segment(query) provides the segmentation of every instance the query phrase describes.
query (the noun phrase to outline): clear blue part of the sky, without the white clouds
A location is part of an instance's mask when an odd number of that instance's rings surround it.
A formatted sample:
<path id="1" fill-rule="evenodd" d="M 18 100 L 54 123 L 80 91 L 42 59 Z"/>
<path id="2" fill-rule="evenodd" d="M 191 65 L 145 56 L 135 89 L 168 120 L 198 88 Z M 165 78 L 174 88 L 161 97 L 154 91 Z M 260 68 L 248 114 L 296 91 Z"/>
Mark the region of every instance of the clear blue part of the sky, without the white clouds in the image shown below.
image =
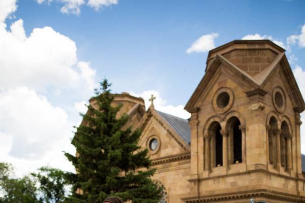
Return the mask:
<path id="1" fill-rule="evenodd" d="M 79 15 L 62 14 L 61 6 L 23 0 L 15 15 L 27 35 L 51 26 L 75 41 L 78 58 L 113 91 L 154 89 L 172 105 L 186 104 L 204 75 L 207 52 L 186 53 L 200 36 L 219 33 L 216 46 L 254 33 L 286 42 L 305 23 L 304 1 L 123 0 L 100 11 L 83 5 Z M 293 53 L 305 63 L 304 49 Z"/>

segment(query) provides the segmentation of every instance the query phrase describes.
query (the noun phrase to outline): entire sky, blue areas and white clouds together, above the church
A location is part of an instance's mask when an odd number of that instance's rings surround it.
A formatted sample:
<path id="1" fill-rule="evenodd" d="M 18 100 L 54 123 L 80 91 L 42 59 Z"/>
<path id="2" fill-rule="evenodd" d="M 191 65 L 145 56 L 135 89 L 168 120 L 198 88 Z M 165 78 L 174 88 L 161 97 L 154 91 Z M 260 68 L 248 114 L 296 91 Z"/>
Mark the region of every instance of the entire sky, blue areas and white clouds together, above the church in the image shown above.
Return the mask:
<path id="1" fill-rule="evenodd" d="M 72 126 L 104 78 L 113 92 L 146 101 L 154 93 L 158 110 L 188 118 L 208 50 L 236 39 L 285 48 L 305 96 L 303 8 L 296 0 L 1 0 L 0 161 L 17 175 L 43 165 L 73 171 L 63 151 L 74 153 Z"/>

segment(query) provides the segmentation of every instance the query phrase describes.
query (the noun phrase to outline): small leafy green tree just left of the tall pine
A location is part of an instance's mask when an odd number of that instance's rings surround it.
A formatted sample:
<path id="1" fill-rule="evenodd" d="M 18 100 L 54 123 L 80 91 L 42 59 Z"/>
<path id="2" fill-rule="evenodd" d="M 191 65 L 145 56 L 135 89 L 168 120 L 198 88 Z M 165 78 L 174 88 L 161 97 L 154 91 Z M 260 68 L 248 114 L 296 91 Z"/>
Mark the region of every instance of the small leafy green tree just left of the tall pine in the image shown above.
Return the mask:
<path id="1" fill-rule="evenodd" d="M 68 196 L 69 183 L 63 171 L 57 168 L 41 167 L 38 173 L 32 173 L 32 176 L 39 183 L 39 192 L 41 199 L 46 203 L 64 202 Z"/>

